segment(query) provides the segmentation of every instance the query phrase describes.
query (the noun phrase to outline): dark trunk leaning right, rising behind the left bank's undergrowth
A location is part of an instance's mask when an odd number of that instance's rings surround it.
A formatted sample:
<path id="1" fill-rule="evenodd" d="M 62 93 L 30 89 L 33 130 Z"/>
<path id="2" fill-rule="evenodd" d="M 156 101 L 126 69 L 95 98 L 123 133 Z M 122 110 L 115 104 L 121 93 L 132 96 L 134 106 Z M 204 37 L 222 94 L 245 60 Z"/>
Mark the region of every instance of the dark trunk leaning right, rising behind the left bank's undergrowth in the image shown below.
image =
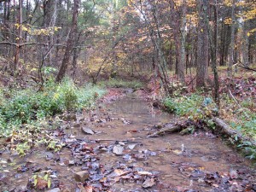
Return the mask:
<path id="1" fill-rule="evenodd" d="M 56 82 L 60 82 L 61 79 L 64 78 L 64 76 L 67 72 L 69 58 L 70 58 L 71 52 L 73 50 L 74 32 L 76 32 L 76 28 L 78 26 L 78 12 L 79 12 L 79 0 L 74 0 L 72 26 L 71 26 L 71 30 L 68 34 L 67 47 L 65 50 L 63 61 L 61 63 L 61 68 L 60 68 L 60 71 L 55 79 Z"/>

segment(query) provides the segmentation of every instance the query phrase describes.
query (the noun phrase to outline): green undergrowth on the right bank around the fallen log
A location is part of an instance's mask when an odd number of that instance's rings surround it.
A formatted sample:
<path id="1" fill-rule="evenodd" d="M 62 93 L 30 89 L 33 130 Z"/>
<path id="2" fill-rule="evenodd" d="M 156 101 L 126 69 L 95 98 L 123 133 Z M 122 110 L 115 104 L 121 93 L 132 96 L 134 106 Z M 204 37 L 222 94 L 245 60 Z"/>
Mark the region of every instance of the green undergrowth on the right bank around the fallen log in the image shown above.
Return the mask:
<path id="1" fill-rule="evenodd" d="M 184 119 L 202 120 L 211 129 L 215 129 L 211 117 L 219 113 L 220 117 L 230 124 L 230 127 L 234 130 L 241 132 L 244 137 L 256 139 L 256 114 L 250 110 L 253 103 L 241 102 L 241 108 L 237 108 L 237 104 L 230 99 L 224 98 L 222 102 L 229 108 L 221 106 L 219 111 L 211 96 L 200 94 L 167 97 L 163 104 L 168 112 L 175 113 Z M 230 106 L 233 106 L 233 108 L 230 108 Z M 230 142 L 241 148 L 249 159 L 256 159 L 256 148 L 252 143 L 247 141 L 237 143 L 236 137 L 230 138 Z"/>

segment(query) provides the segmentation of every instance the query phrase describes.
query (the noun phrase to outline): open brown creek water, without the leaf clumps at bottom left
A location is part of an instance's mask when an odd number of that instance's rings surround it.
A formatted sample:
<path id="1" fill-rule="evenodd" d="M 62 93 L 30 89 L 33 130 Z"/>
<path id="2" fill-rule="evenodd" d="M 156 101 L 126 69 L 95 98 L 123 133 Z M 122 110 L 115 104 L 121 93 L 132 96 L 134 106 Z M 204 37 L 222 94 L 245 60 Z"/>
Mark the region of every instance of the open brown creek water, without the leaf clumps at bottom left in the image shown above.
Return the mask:
<path id="1" fill-rule="evenodd" d="M 214 183 L 213 181 L 211 183 L 210 180 L 214 180 L 214 177 L 219 177 L 220 180 L 223 177 L 232 177 L 230 174 L 234 174 L 234 178 L 238 178 L 239 172 L 242 172 L 243 175 L 249 172 L 248 177 L 251 178 L 248 178 L 247 183 L 252 183 L 255 178 L 252 163 L 234 152 L 220 138 L 214 137 L 211 133 L 198 132 L 185 136 L 166 134 L 162 137 L 147 137 L 149 132 L 156 131 L 154 125 L 175 120 L 174 116 L 151 108 L 148 102 L 130 95 L 116 102 L 101 104 L 94 112 L 80 113 L 74 121 L 68 123 L 63 121 L 61 127 L 65 130 L 65 135 L 71 143 L 75 139 L 87 142 L 86 144 L 90 148 L 99 148 L 99 146 L 105 148 L 106 150 L 94 154 L 105 170 L 124 164 L 137 167 L 138 170 L 142 169 L 144 172 L 150 172 L 156 176 L 155 184 L 147 189 L 142 187 L 142 182 L 136 182 L 134 179 L 122 179 L 112 183 L 109 191 L 233 191 L 230 183 L 229 187 L 224 190 L 223 186 L 218 188 L 224 183 Z M 81 131 L 82 127 L 94 131 L 95 134 L 84 134 Z M 115 144 L 119 144 L 124 149 L 122 154 L 114 154 L 112 148 L 108 148 Z M 56 184 L 57 187 L 69 189 L 69 191 L 79 191 L 73 179 L 73 172 L 81 171 L 82 165 L 79 163 L 65 164 L 65 161 L 73 160 L 72 150 L 62 148 L 58 154 L 60 161 L 56 161 L 54 158 L 45 160 L 46 155 L 52 154 L 44 149 L 38 149 L 23 158 L 18 158 L 17 155 L 12 158 L 15 159 L 16 167 L 27 164 L 27 162 L 37 165 L 37 167 L 50 167 L 56 172 L 60 181 L 59 185 Z M 2 161 L 7 160 L 10 158 L 10 154 L 3 153 L 0 158 Z M 12 170 L 14 166 L 4 166 L 3 169 Z M 0 175 L 1 191 L 10 191 L 11 189 L 19 191 L 19 186 L 26 185 L 32 172 L 34 172 L 32 169 L 20 173 L 4 172 L 3 181 L 1 181 Z M 241 191 L 243 189 L 241 187 Z M 22 190 L 20 189 L 20 191 Z"/>

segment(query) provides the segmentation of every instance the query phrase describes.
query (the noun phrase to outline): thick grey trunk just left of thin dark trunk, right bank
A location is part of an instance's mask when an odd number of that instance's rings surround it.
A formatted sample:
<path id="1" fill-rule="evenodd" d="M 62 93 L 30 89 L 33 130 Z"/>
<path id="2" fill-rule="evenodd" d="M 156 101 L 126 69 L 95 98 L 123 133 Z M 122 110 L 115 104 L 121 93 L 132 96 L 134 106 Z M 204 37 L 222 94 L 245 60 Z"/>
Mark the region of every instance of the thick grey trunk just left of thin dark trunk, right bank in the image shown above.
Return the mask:
<path id="1" fill-rule="evenodd" d="M 197 40 L 197 66 L 196 66 L 196 88 L 205 86 L 207 79 L 208 67 L 208 32 L 207 32 L 207 10 L 209 7 L 208 0 L 197 0 L 199 7 L 199 24 Z"/>

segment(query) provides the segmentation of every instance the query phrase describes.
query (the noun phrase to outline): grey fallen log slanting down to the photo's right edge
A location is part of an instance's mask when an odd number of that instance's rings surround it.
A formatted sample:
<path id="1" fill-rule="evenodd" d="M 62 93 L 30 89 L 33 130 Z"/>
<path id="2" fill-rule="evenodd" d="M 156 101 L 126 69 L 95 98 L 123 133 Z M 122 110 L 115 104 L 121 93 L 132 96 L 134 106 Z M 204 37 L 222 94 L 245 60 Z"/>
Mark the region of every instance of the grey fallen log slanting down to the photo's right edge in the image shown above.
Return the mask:
<path id="1" fill-rule="evenodd" d="M 226 135 L 228 137 L 233 137 L 233 138 L 236 137 L 236 141 L 239 143 L 247 141 L 249 143 L 252 143 L 252 145 L 256 146 L 255 140 L 253 140 L 252 138 L 249 138 L 249 137 L 242 136 L 240 132 L 235 131 L 232 128 L 230 128 L 230 125 L 227 125 L 223 119 L 212 118 L 212 121 L 215 123 L 215 125 L 217 125 L 217 129 L 224 135 Z"/>

